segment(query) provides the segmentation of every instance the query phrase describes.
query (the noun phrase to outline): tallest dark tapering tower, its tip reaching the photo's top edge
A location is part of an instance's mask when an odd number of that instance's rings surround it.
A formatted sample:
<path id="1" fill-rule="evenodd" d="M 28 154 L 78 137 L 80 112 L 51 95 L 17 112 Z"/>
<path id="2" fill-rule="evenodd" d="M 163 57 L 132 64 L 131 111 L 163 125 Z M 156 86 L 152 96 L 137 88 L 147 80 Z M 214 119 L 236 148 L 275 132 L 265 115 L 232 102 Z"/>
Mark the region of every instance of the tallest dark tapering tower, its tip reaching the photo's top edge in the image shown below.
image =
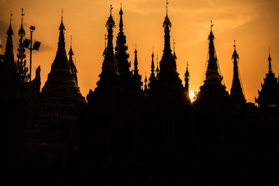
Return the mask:
<path id="1" fill-rule="evenodd" d="M 167 2 L 168 4 L 168 2 Z M 157 102 L 167 102 L 169 104 L 182 103 L 185 101 L 184 88 L 182 81 L 179 78 L 179 73 L 176 72 L 176 61 L 170 48 L 169 30 L 172 23 L 167 15 L 163 22 L 165 31 L 165 46 L 163 56 L 160 61 L 160 72 L 158 73 L 158 84 L 156 85 L 156 93 L 153 97 Z"/>

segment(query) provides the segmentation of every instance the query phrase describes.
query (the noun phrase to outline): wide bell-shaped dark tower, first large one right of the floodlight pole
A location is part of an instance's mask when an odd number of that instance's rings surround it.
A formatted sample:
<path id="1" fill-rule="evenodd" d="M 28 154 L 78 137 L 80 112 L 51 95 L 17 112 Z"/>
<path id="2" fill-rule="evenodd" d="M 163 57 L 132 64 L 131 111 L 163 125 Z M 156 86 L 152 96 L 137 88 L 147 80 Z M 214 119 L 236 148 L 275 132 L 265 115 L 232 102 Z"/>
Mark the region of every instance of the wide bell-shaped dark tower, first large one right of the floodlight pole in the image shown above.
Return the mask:
<path id="1" fill-rule="evenodd" d="M 43 86 L 42 92 L 40 93 L 41 102 L 50 107 L 65 104 L 69 106 L 76 105 L 85 101 L 80 93 L 75 76 L 71 71 L 71 65 L 67 59 L 64 38 L 65 30 L 62 11 L 58 49 L 50 73 L 47 76 L 47 82 L 45 82 L 45 86 Z M 69 53 L 71 53 L 71 50 Z"/>

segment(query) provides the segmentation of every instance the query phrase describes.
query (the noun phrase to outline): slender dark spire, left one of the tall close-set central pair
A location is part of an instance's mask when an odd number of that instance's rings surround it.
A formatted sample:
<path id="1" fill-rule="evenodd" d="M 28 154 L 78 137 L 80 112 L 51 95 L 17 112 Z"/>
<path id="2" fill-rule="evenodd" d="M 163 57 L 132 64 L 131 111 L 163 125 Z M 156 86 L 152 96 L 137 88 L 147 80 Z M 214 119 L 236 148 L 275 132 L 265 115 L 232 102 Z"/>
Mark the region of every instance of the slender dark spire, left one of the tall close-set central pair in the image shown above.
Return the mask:
<path id="1" fill-rule="evenodd" d="M 119 76 L 116 58 L 114 56 L 113 40 L 113 28 L 115 28 L 115 22 L 112 17 L 112 5 L 110 5 L 110 17 L 108 18 L 105 26 L 107 27 L 107 49 L 105 50 L 105 59 L 103 61 L 102 73 L 100 77 L 104 75 L 116 75 Z"/>

